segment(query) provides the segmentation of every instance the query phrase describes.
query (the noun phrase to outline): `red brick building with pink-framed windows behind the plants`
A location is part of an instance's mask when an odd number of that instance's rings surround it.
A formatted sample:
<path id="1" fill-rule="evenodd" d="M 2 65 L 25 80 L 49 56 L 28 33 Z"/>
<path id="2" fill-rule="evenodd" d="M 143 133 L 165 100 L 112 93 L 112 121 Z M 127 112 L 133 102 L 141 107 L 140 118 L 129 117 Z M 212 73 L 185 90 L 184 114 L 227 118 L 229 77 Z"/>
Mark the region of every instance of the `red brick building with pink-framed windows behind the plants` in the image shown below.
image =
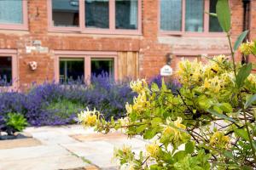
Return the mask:
<path id="1" fill-rule="evenodd" d="M 118 80 L 153 77 L 166 54 L 174 70 L 182 57 L 230 54 L 218 20 L 204 13 L 214 13 L 216 2 L 1 0 L 0 75 L 13 88 L 101 71 Z M 256 0 L 230 0 L 230 7 L 233 39 L 245 29 L 255 39 Z"/>

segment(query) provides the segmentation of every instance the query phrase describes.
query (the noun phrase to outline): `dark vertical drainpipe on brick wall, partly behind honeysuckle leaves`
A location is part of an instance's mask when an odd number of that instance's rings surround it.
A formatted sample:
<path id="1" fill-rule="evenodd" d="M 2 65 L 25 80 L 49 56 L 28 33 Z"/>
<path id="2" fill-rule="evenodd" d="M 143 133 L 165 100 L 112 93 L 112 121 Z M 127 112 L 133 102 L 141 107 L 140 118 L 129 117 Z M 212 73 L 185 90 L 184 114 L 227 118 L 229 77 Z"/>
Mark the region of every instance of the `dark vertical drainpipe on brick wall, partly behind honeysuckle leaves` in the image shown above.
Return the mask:
<path id="1" fill-rule="evenodd" d="M 251 0 L 242 0 L 243 4 L 243 21 L 242 21 L 242 31 L 250 29 L 250 12 L 251 12 Z M 249 39 L 249 33 L 247 37 L 243 40 L 246 42 Z M 241 64 L 248 63 L 248 55 L 243 55 L 241 58 Z"/>

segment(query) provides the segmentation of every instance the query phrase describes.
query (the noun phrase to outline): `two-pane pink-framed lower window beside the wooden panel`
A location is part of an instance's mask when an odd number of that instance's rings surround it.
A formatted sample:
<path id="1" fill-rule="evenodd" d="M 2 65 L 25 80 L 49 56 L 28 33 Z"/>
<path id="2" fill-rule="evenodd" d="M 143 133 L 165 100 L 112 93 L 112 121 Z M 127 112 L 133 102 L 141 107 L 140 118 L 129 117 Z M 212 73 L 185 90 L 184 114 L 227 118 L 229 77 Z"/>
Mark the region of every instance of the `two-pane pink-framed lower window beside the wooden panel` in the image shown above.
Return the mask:
<path id="1" fill-rule="evenodd" d="M 117 78 L 116 52 L 55 51 L 55 81 L 85 82 L 100 75 Z"/>

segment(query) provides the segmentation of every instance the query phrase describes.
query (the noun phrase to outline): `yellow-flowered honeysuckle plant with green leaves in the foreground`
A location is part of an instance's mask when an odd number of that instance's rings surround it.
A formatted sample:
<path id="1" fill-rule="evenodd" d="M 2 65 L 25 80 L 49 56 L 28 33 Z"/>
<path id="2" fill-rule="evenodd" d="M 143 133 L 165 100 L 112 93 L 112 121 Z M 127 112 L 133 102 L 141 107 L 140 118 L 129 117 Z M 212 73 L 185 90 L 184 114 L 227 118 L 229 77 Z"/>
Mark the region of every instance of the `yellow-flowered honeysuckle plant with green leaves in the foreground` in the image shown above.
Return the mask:
<path id="1" fill-rule="evenodd" d="M 145 151 L 116 149 L 123 169 L 255 169 L 256 168 L 256 76 L 252 64 L 236 64 L 235 52 L 255 55 L 255 42 L 234 47 L 230 40 L 228 0 L 218 0 L 218 21 L 230 42 L 230 57 L 218 55 L 207 65 L 183 60 L 177 76 L 182 87 L 176 92 L 145 80 L 131 82 L 137 93 L 126 104 L 126 116 L 107 122 L 97 111 L 84 111 L 85 127 L 109 133 L 122 129 L 129 137 L 148 139 Z"/>

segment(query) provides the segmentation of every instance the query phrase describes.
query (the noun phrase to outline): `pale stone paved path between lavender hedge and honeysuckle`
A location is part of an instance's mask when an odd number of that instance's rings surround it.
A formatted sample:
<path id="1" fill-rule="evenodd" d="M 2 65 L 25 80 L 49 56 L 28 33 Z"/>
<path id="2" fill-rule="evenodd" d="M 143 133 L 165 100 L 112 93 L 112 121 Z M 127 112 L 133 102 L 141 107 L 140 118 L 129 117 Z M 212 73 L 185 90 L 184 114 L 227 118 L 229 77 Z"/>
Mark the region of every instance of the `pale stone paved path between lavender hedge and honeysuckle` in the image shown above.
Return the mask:
<path id="1" fill-rule="evenodd" d="M 146 144 L 122 133 L 104 135 L 79 125 L 28 127 L 24 133 L 33 139 L 4 141 L 0 147 L 0 170 L 118 169 L 112 159 L 114 147 L 131 145 L 137 152 Z"/>

